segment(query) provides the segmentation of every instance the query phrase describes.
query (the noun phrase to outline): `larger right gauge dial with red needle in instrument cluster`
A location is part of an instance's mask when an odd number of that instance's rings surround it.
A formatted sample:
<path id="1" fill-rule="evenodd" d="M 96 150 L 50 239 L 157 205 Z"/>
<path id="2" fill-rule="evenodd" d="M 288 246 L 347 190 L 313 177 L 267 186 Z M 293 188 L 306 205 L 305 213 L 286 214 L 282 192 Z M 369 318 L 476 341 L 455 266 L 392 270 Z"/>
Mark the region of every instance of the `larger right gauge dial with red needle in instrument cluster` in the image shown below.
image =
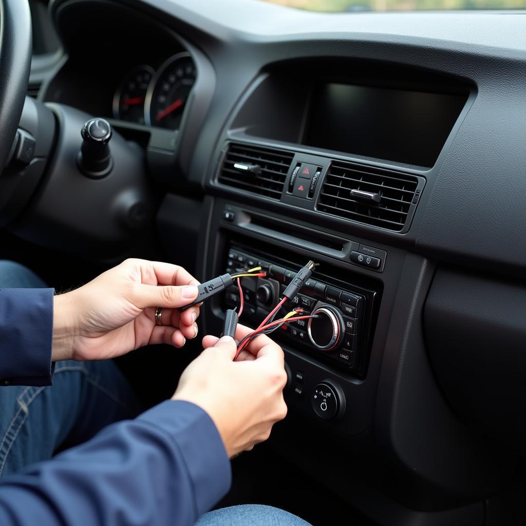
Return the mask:
<path id="1" fill-rule="evenodd" d="M 146 124 L 179 129 L 195 78 L 196 68 L 188 53 L 178 53 L 166 60 L 148 87 L 144 108 Z"/>

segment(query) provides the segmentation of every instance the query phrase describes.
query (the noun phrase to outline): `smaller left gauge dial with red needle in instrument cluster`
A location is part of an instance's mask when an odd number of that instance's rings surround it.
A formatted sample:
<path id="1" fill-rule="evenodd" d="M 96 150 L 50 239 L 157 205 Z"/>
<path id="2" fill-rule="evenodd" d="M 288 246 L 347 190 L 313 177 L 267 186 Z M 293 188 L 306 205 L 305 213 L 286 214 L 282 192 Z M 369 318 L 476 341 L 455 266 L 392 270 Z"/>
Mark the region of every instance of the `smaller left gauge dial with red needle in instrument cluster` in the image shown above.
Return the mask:
<path id="1" fill-rule="evenodd" d="M 126 74 L 113 97 L 116 119 L 144 124 L 144 101 L 154 74 L 150 66 L 138 66 Z"/>

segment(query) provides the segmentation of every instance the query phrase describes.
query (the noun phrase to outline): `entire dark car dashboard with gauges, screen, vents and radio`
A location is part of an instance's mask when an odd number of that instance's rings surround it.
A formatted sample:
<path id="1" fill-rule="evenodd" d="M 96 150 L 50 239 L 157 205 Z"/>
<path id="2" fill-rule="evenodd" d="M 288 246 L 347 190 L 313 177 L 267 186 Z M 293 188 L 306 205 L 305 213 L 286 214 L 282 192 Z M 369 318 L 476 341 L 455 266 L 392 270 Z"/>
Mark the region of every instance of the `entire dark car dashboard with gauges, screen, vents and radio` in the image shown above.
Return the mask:
<path id="1" fill-rule="evenodd" d="M 251 326 L 319 264 L 291 301 L 325 325 L 277 331 L 289 416 L 273 446 L 380 524 L 485 524 L 525 452 L 524 17 L 51 12 L 65 55 L 39 98 L 145 149 L 174 262 L 201 280 L 261 266 L 241 282 Z M 239 294 L 206 302 L 202 333 Z"/>

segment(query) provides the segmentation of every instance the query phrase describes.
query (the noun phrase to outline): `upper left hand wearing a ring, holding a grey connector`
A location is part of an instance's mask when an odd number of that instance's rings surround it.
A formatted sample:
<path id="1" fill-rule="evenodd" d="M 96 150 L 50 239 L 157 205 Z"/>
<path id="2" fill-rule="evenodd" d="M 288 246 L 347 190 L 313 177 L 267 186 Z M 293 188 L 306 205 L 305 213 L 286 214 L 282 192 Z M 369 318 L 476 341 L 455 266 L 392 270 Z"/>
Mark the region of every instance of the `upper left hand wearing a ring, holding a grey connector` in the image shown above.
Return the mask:
<path id="1" fill-rule="evenodd" d="M 55 296 L 53 361 L 103 360 L 148 343 L 185 345 L 197 336 L 199 307 L 179 312 L 199 284 L 176 265 L 127 259 L 72 292 Z M 155 311 L 163 307 L 161 325 Z"/>

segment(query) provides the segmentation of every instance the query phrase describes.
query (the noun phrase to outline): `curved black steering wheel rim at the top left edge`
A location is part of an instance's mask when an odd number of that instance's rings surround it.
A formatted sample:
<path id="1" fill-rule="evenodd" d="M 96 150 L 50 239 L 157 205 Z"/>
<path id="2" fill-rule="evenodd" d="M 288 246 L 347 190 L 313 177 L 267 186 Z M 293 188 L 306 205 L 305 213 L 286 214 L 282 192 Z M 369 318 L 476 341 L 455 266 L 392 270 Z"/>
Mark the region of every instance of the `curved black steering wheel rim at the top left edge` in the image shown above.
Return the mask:
<path id="1" fill-rule="evenodd" d="M 0 0 L 0 174 L 4 169 L 29 83 L 31 12 L 27 0 Z"/>

